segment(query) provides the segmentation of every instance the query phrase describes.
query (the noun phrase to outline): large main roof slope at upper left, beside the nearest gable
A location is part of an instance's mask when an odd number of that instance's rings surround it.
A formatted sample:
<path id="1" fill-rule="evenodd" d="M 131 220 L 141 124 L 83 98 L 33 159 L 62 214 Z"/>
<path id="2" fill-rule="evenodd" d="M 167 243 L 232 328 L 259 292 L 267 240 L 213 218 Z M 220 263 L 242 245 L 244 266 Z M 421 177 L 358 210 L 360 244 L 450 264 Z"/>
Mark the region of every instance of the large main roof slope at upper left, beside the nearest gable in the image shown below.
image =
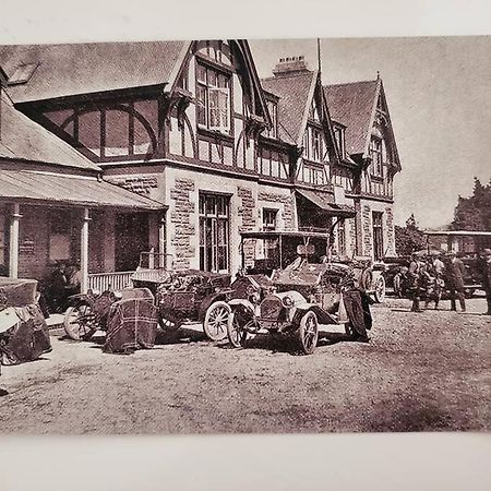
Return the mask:
<path id="1" fill-rule="evenodd" d="M 166 84 L 190 41 L 0 46 L 9 76 L 37 63 L 28 83 L 12 85 L 13 101 Z"/>

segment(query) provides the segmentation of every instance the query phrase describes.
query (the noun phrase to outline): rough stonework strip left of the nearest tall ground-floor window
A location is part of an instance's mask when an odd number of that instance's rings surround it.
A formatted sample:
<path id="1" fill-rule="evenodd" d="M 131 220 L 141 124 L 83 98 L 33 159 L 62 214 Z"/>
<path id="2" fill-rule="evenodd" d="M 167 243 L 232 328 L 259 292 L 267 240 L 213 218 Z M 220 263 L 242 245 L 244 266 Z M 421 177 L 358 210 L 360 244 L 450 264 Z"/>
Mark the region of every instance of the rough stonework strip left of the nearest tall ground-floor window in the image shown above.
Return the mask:
<path id="1" fill-rule="evenodd" d="M 194 217 L 195 203 L 191 201 L 191 193 L 194 193 L 194 181 L 191 179 L 176 179 L 175 187 L 170 189 L 169 219 L 173 225 L 170 243 L 173 249 L 175 265 L 184 268 L 190 267 L 190 260 L 196 252 L 192 244 L 197 230 Z"/>

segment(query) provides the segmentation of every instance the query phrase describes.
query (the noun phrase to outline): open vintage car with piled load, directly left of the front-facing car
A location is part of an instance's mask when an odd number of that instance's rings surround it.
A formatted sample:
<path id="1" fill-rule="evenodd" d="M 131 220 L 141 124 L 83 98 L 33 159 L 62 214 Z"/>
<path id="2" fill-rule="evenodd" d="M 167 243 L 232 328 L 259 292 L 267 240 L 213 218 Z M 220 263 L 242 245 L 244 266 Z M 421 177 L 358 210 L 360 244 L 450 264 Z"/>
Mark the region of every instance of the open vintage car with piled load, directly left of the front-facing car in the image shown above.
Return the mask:
<path id="1" fill-rule="evenodd" d="M 199 270 L 179 270 L 169 254 L 141 254 L 132 276 L 135 287 L 146 287 L 155 295 L 159 324 L 178 330 L 185 324 L 203 323 L 212 340 L 227 337 L 230 307 L 230 275 Z"/>

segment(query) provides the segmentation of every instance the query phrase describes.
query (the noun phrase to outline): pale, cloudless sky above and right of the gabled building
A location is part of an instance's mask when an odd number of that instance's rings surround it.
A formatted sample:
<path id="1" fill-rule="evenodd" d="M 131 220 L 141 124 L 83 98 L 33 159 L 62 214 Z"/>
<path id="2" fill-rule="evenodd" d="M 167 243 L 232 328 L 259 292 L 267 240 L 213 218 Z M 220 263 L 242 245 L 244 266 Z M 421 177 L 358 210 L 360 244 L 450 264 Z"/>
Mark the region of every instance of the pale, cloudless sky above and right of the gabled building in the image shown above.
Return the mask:
<path id="1" fill-rule="evenodd" d="M 303 55 L 316 69 L 315 39 L 251 40 L 260 76 L 279 58 Z M 380 71 L 403 170 L 395 221 L 424 228 L 453 219 L 474 177 L 491 179 L 491 36 L 322 39 L 325 84 L 376 79 Z"/>

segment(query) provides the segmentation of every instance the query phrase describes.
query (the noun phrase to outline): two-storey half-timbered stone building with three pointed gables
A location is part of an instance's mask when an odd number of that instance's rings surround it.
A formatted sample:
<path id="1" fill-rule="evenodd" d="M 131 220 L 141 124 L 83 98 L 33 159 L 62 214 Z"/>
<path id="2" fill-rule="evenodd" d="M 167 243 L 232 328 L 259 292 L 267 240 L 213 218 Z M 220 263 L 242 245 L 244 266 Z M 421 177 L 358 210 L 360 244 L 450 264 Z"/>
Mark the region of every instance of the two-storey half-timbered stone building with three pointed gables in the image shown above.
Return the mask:
<path id="1" fill-rule="evenodd" d="M 93 275 L 134 268 L 142 250 L 170 255 L 175 267 L 235 273 L 242 230 L 337 229 L 346 255 L 379 256 L 393 242 L 398 159 L 381 82 L 361 121 L 302 57 L 260 80 L 246 40 L 5 46 L 0 64 L 12 110 L 97 182 L 154 206 L 91 213 L 101 242 L 108 229 L 121 238 L 101 246 L 104 261 L 93 253 Z M 371 171 L 375 137 L 382 164 Z"/>

